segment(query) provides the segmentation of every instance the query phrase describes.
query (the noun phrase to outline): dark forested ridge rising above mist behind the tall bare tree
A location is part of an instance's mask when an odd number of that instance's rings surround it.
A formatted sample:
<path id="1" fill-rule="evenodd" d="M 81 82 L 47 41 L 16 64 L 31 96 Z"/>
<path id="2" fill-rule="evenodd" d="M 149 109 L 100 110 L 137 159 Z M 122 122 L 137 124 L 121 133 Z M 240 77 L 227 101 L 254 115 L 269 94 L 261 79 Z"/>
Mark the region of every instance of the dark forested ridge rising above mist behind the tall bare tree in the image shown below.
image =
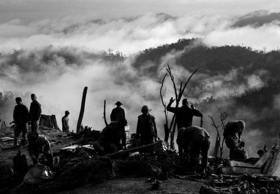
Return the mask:
<path id="1" fill-rule="evenodd" d="M 182 51 L 176 58 L 176 65 L 185 67 L 190 71 L 198 69 L 200 73 L 217 75 L 237 68 L 242 68 L 244 74 L 264 69 L 270 72 L 270 76 L 279 77 L 279 50 L 265 52 L 264 50 L 252 50 L 244 46 L 208 48 L 202 45 L 199 39 L 180 39 L 177 43 L 145 49 L 140 52 L 133 65 L 141 67 L 151 62 L 154 66 L 145 73 L 155 73 L 161 63 L 161 58 L 174 51 Z M 153 71 L 151 72 L 151 70 Z"/>

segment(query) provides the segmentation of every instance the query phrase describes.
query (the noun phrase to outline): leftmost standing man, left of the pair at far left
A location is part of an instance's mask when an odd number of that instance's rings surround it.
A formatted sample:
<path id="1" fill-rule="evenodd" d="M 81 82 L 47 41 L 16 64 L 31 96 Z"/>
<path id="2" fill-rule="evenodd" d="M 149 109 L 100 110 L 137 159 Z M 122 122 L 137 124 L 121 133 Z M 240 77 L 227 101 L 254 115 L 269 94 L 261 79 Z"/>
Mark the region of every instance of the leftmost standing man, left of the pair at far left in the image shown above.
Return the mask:
<path id="1" fill-rule="evenodd" d="M 15 143 L 14 145 L 18 145 L 18 138 L 20 133 L 22 132 L 22 144 L 26 143 L 26 133 L 27 133 L 27 123 L 28 123 L 28 108 L 22 103 L 22 98 L 16 98 L 17 105 L 14 109 L 14 123 L 15 127 Z"/>

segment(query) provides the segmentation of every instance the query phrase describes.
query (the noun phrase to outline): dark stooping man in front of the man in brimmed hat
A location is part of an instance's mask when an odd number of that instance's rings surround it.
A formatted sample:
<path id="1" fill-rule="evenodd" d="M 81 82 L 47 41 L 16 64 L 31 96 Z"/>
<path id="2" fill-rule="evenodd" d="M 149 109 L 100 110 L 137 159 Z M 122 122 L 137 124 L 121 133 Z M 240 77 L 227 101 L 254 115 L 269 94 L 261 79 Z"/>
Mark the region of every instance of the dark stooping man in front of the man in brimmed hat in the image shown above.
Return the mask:
<path id="1" fill-rule="evenodd" d="M 93 147 L 99 155 L 114 153 L 120 150 L 120 148 L 126 148 L 126 135 L 124 130 L 124 126 L 126 125 L 127 121 L 121 119 L 111 122 L 101 131 L 99 140 L 93 143 Z"/>

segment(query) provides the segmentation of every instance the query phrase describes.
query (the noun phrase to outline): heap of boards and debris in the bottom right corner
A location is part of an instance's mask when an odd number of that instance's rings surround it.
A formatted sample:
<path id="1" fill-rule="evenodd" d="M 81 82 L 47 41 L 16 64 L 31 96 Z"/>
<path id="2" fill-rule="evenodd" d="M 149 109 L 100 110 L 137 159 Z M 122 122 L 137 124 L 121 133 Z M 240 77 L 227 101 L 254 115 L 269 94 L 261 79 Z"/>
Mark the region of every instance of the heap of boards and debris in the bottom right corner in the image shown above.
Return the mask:
<path id="1" fill-rule="evenodd" d="M 223 160 L 213 168 L 216 174 L 205 177 L 207 185 L 200 194 L 280 194 L 280 147 L 276 144 L 257 160 Z"/>

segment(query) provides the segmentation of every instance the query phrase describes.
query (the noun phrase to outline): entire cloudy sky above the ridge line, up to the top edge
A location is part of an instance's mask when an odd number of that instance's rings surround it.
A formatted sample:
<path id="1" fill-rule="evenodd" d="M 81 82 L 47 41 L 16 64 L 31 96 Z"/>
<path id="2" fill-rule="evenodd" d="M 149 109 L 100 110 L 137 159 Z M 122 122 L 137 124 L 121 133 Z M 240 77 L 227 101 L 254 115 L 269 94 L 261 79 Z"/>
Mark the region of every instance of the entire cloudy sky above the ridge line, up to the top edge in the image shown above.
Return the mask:
<path id="1" fill-rule="evenodd" d="M 205 38 L 209 46 L 277 49 L 279 24 L 237 29 L 231 25 L 254 11 L 280 12 L 279 4 L 279 0 L 0 0 L 0 52 L 52 44 L 131 54 L 192 37 Z"/>

